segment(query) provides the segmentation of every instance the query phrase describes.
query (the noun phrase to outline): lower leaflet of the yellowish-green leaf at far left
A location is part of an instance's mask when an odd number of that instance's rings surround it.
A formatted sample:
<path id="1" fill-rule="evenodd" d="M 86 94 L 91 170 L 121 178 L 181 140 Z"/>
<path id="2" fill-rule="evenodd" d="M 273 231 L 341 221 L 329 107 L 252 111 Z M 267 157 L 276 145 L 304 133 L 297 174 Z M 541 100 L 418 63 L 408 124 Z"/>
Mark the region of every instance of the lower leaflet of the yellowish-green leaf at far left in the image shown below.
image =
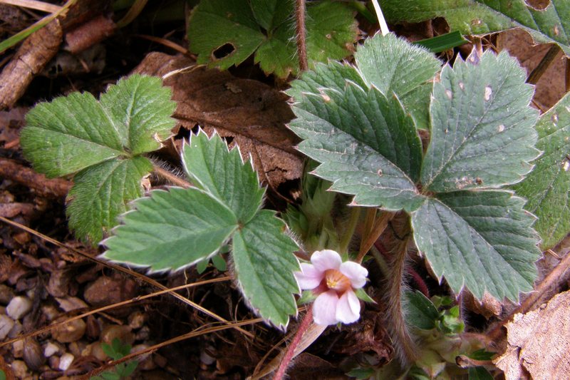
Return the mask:
<path id="1" fill-rule="evenodd" d="M 99 242 L 130 208 L 128 202 L 142 196 L 140 180 L 151 170 L 144 157 L 108 160 L 82 170 L 68 194 L 69 227 L 76 235 Z"/>

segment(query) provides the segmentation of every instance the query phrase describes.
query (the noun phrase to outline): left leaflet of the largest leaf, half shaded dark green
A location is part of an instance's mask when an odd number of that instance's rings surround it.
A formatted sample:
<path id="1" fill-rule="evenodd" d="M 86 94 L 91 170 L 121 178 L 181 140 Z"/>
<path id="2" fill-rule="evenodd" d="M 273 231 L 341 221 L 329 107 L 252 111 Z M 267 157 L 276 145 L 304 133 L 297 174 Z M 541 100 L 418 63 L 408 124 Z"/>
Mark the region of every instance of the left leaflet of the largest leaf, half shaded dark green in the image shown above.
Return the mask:
<path id="1" fill-rule="evenodd" d="M 354 83 L 321 91 L 298 99 L 289 125 L 304 139 L 299 150 L 322 163 L 314 174 L 355 195 L 354 204 L 413 210 L 422 202 L 414 184 L 421 142 L 398 99 Z"/>

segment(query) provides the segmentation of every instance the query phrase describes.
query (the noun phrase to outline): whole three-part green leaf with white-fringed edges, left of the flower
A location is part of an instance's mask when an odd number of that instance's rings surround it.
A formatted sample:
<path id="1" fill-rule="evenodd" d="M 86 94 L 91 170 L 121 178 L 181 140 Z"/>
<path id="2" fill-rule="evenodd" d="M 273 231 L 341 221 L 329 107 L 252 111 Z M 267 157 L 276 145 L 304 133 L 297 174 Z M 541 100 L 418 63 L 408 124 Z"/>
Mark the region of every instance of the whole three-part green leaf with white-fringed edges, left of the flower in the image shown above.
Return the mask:
<path id="1" fill-rule="evenodd" d="M 265 191 L 252 165 L 219 135 L 202 131 L 184 145 L 182 161 L 196 187 L 154 190 L 136 200 L 105 240 L 104 257 L 152 272 L 180 269 L 213 257 L 232 239 L 244 297 L 261 317 L 285 327 L 296 314 L 297 245 L 274 212 L 260 210 Z"/>

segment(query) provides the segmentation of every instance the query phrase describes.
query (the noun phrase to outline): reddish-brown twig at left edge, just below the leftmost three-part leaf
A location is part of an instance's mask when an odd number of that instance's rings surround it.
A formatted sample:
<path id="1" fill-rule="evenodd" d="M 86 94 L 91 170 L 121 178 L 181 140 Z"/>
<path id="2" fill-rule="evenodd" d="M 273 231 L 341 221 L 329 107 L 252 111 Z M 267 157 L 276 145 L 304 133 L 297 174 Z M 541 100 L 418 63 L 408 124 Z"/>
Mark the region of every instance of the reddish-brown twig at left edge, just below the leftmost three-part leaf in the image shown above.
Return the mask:
<path id="1" fill-rule="evenodd" d="M 13 180 L 26 187 L 35 190 L 43 197 L 61 198 L 65 197 L 73 186 L 68 180 L 61 178 L 48 179 L 43 174 L 38 174 L 24 165 L 20 165 L 14 160 L 0 158 L 0 177 Z"/>

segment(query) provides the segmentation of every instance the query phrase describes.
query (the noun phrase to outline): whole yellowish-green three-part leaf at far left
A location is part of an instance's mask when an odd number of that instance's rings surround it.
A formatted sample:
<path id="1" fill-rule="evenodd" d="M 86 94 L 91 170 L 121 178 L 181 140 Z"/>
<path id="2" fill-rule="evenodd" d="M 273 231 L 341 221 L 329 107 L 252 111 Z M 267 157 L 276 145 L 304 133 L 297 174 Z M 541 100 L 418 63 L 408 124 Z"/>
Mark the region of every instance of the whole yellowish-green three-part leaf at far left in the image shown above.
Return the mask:
<path id="1" fill-rule="evenodd" d="M 152 165 L 140 157 L 160 148 L 175 120 L 176 103 L 160 78 L 123 78 L 97 101 L 72 93 L 39 103 L 21 131 L 25 157 L 39 173 L 77 173 L 69 193 L 69 225 L 83 240 L 98 242 L 117 224 L 128 202 L 142 195 Z"/>

